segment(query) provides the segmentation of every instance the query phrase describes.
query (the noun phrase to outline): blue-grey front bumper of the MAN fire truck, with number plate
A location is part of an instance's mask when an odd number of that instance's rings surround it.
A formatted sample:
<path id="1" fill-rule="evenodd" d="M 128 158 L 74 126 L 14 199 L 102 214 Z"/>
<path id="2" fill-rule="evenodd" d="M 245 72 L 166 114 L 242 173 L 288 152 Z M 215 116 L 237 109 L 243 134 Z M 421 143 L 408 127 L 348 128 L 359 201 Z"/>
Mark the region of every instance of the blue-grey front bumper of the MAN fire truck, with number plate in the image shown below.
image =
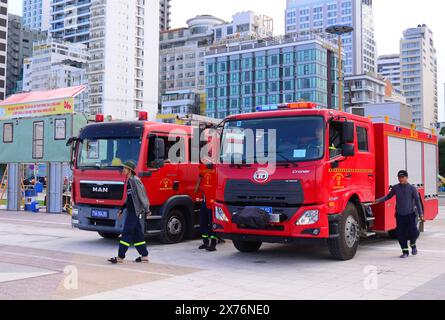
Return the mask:
<path id="1" fill-rule="evenodd" d="M 126 211 L 118 219 L 119 208 L 99 208 L 77 205 L 73 207 L 71 224 L 86 231 L 121 234 L 124 229 Z"/>

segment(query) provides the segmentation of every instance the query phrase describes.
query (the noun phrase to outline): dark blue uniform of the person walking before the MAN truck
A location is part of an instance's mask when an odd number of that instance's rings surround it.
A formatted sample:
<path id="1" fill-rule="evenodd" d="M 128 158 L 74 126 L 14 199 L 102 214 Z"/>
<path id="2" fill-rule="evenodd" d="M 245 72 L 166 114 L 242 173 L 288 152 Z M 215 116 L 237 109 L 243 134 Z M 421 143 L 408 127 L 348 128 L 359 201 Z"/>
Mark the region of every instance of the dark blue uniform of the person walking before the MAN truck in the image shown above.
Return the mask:
<path id="1" fill-rule="evenodd" d="M 121 259 L 125 259 L 125 254 L 132 244 L 134 244 L 136 250 L 142 257 L 148 256 L 144 231 L 142 230 L 139 217 L 136 215 L 131 194 L 131 186 L 130 183 L 127 182 L 127 200 L 122 207 L 122 210 L 127 209 L 127 218 L 125 220 L 121 241 L 119 242 L 119 258 Z"/>

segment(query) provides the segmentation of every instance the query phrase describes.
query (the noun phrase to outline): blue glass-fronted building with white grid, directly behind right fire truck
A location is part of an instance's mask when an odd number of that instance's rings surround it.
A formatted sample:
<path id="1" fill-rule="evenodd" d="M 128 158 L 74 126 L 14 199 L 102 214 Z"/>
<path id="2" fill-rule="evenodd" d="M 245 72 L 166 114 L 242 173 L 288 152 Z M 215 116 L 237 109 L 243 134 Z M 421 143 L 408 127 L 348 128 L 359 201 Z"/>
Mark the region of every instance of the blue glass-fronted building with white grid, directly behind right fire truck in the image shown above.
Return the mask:
<path id="1" fill-rule="evenodd" d="M 311 101 L 337 108 L 337 48 L 319 35 L 228 43 L 206 55 L 208 117 L 256 106 Z"/>

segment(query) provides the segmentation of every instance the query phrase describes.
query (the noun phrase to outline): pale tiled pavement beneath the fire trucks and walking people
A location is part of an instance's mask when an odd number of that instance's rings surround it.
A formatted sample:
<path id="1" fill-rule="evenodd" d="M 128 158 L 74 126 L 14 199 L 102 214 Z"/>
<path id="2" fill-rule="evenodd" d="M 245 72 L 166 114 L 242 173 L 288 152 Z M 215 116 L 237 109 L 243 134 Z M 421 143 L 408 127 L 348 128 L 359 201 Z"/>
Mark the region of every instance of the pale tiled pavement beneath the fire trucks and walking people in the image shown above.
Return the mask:
<path id="1" fill-rule="evenodd" d="M 445 207 L 426 231 L 407 260 L 385 237 L 347 262 L 316 246 L 241 254 L 231 243 L 208 253 L 199 241 L 151 241 L 152 264 L 110 266 L 116 241 L 71 229 L 67 216 L 0 212 L 0 299 L 444 299 Z"/>

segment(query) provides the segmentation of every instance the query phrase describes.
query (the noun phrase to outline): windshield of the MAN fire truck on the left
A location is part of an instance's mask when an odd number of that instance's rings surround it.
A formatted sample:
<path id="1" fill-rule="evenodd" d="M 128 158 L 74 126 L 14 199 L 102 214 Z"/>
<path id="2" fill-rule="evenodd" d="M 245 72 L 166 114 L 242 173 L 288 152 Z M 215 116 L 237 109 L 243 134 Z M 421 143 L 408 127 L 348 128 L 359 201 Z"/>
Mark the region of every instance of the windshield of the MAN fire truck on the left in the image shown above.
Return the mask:
<path id="1" fill-rule="evenodd" d="M 83 139 L 79 143 L 77 168 L 113 169 L 126 161 L 138 162 L 140 138 Z"/>

